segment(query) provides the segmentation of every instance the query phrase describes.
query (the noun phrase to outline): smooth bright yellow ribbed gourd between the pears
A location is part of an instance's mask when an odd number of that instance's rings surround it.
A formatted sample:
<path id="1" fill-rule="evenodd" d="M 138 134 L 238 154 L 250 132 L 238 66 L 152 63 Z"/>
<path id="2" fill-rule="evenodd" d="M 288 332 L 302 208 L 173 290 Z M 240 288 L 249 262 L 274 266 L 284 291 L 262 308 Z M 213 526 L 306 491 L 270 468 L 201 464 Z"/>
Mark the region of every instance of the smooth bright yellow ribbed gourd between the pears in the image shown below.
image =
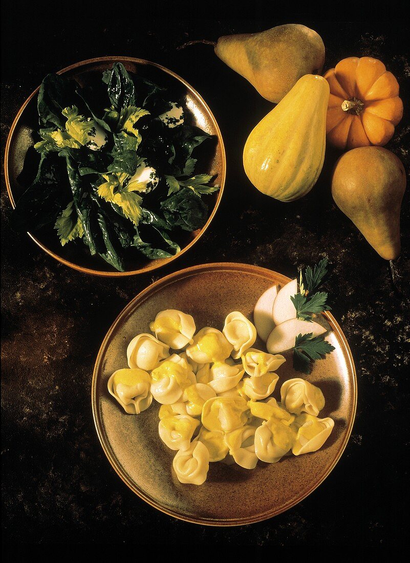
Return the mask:
<path id="1" fill-rule="evenodd" d="M 329 84 L 306 74 L 252 130 L 243 166 L 252 184 L 282 202 L 306 195 L 322 171 Z"/>

